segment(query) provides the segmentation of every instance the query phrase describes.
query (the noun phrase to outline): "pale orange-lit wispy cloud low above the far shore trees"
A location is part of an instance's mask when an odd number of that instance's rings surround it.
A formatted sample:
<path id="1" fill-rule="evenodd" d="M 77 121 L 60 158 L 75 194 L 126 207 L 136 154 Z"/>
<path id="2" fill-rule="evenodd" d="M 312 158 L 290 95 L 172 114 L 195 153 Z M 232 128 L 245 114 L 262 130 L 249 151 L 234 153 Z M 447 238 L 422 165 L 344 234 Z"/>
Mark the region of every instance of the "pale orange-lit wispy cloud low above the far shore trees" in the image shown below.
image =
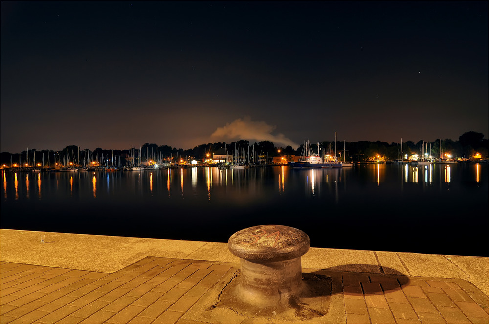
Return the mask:
<path id="1" fill-rule="evenodd" d="M 284 134 L 273 135 L 272 131 L 275 130 L 275 128 L 276 126 L 268 125 L 265 121 L 252 121 L 249 116 L 246 116 L 243 119 L 238 118 L 231 123 L 226 123 L 223 127 L 218 127 L 214 133 L 212 133 L 211 137 L 218 141 L 270 141 L 273 142 L 275 146 L 285 147 L 290 145 L 294 149 L 299 146 L 299 144 L 285 137 Z"/>

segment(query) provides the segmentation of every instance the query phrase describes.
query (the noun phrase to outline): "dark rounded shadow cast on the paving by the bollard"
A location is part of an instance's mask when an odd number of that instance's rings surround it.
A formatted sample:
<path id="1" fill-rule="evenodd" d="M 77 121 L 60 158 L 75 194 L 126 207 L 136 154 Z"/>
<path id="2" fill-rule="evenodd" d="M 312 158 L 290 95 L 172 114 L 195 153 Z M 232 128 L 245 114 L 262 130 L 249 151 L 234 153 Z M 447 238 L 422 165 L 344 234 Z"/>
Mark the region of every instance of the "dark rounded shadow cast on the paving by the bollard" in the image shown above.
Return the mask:
<path id="1" fill-rule="evenodd" d="M 361 269 L 361 272 L 349 272 L 345 269 Z M 363 296 L 389 293 L 400 290 L 409 284 L 409 277 L 399 271 L 382 267 L 383 273 L 375 273 L 378 267 L 369 264 L 345 264 L 313 272 L 303 272 L 307 296 L 321 297 L 335 294 Z M 358 271 L 358 270 L 357 270 Z M 372 271 L 372 272 L 366 272 Z"/>

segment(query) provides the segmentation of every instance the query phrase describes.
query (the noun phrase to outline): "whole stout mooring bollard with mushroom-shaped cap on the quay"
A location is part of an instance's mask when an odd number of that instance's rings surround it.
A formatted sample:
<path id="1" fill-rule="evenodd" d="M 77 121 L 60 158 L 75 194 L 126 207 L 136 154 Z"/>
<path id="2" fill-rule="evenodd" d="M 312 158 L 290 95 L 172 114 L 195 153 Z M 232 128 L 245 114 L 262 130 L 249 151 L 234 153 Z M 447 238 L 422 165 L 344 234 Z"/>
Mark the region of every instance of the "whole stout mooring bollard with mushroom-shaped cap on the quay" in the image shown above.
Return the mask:
<path id="1" fill-rule="evenodd" d="M 235 290 L 246 304 L 287 307 L 304 288 L 301 256 L 309 250 L 309 236 L 282 225 L 262 225 L 234 233 L 228 241 L 240 258 L 241 281 Z"/>

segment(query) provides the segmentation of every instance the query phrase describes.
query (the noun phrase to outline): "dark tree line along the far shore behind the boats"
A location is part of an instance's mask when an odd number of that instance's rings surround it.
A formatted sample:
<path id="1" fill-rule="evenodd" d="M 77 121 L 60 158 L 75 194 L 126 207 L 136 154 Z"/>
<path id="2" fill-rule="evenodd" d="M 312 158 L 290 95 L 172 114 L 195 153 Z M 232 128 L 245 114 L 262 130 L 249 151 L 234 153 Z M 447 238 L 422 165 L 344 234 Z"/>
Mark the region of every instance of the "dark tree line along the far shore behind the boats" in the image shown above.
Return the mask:
<path id="1" fill-rule="evenodd" d="M 319 147 L 318 147 L 319 144 Z M 479 153 L 482 157 L 488 157 L 488 139 L 484 138 L 484 134 L 477 132 L 466 132 L 459 136 L 457 141 L 451 139 L 436 139 L 431 142 L 426 141 L 406 141 L 402 143 L 402 152 L 400 143 L 387 143 L 387 142 L 371 142 L 371 141 L 358 141 L 358 142 L 334 142 L 323 141 L 319 143 L 311 143 L 313 151 L 319 152 L 321 155 L 330 154 L 334 156 L 335 147 L 337 157 L 339 160 L 345 161 L 367 161 L 377 156 L 382 157 L 384 160 L 396 160 L 401 159 L 402 154 L 421 154 L 423 152 L 429 153 L 435 158 L 445 154 L 450 154 L 453 158 L 456 157 L 472 157 L 475 153 Z M 292 156 L 301 155 L 304 144 L 294 149 L 292 146 L 280 147 L 275 146 L 273 142 L 261 141 L 250 144 L 247 140 L 239 140 L 231 143 L 217 142 L 207 143 L 195 146 L 192 149 L 177 149 L 168 145 L 157 145 L 154 143 L 145 143 L 139 149 L 134 150 L 111 150 L 96 148 L 91 151 L 89 149 L 81 149 L 76 145 L 70 145 L 60 151 L 53 150 L 36 150 L 29 149 L 28 151 L 22 151 L 20 153 L 1 152 L 0 160 L 2 165 L 11 166 L 12 163 L 23 165 L 28 163 L 32 165 L 34 159 L 37 163 L 44 163 L 47 165 L 49 161 L 50 165 L 53 165 L 55 161 L 67 163 L 68 161 L 74 161 L 77 164 L 82 162 L 103 160 L 108 165 L 126 165 L 128 160 L 140 159 L 141 161 L 148 161 L 154 159 L 158 162 L 176 162 L 177 159 L 188 160 L 204 160 L 206 157 L 212 157 L 218 151 L 226 151 L 229 155 L 235 152 L 236 148 L 240 150 L 251 150 L 256 156 Z M 440 151 L 441 150 L 441 151 Z M 136 153 L 134 153 L 136 152 Z"/>

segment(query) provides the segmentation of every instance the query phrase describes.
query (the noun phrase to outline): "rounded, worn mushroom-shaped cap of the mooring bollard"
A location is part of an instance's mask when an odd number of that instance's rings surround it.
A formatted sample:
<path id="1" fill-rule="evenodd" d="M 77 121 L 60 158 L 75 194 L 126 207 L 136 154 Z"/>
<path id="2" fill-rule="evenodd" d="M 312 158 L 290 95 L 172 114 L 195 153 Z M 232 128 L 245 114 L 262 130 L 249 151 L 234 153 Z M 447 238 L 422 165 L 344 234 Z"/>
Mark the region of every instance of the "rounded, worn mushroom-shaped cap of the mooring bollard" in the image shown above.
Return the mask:
<path id="1" fill-rule="evenodd" d="M 298 258 L 309 250 L 309 236 L 282 225 L 260 225 L 234 233 L 228 240 L 232 254 L 245 260 L 280 261 Z"/>

